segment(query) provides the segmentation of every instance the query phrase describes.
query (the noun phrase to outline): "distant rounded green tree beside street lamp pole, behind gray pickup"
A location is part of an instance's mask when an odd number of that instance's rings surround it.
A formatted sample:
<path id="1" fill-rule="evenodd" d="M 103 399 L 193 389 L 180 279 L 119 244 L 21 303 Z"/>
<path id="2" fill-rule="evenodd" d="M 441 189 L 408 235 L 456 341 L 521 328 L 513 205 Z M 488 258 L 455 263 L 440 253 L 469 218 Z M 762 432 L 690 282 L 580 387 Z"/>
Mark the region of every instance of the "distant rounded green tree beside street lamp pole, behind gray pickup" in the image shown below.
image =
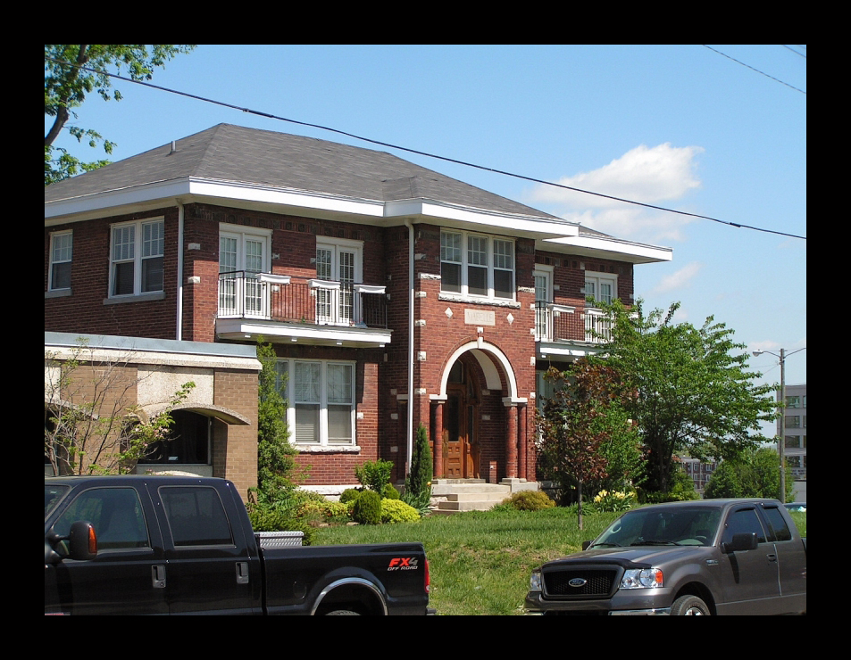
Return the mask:
<path id="1" fill-rule="evenodd" d="M 725 460 L 706 484 L 706 498 L 778 498 L 780 496 L 780 456 L 777 450 L 761 447 L 743 451 Z M 795 477 L 786 468 L 784 501 L 795 495 Z"/>

